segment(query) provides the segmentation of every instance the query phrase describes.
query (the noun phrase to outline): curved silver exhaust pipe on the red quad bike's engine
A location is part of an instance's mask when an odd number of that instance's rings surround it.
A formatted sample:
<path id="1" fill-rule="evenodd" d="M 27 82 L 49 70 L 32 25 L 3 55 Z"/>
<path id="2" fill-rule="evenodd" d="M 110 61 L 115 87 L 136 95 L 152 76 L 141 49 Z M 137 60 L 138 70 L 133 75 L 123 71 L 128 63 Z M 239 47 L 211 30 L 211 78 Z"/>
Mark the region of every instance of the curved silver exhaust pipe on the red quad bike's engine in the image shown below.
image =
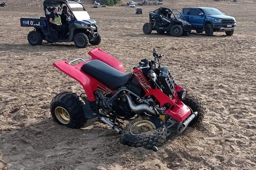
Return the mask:
<path id="1" fill-rule="evenodd" d="M 139 104 L 139 105 L 135 105 L 135 103 L 133 103 L 132 99 L 130 96 L 128 95 L 125 95 L 127 97 L 127 100 L 128 100 L 128 103 L 129 103 L 129 106 L 131 108 L 131 110 L 133 112 L 135 112 L 136 114 L 139 114 L 141 112 L 148 112 L 149 114 L 151 115 L 157 115 L 156 111 L 154 110 L 154 108 L 150 108 L 149 105 L 147 104 Z"/>

